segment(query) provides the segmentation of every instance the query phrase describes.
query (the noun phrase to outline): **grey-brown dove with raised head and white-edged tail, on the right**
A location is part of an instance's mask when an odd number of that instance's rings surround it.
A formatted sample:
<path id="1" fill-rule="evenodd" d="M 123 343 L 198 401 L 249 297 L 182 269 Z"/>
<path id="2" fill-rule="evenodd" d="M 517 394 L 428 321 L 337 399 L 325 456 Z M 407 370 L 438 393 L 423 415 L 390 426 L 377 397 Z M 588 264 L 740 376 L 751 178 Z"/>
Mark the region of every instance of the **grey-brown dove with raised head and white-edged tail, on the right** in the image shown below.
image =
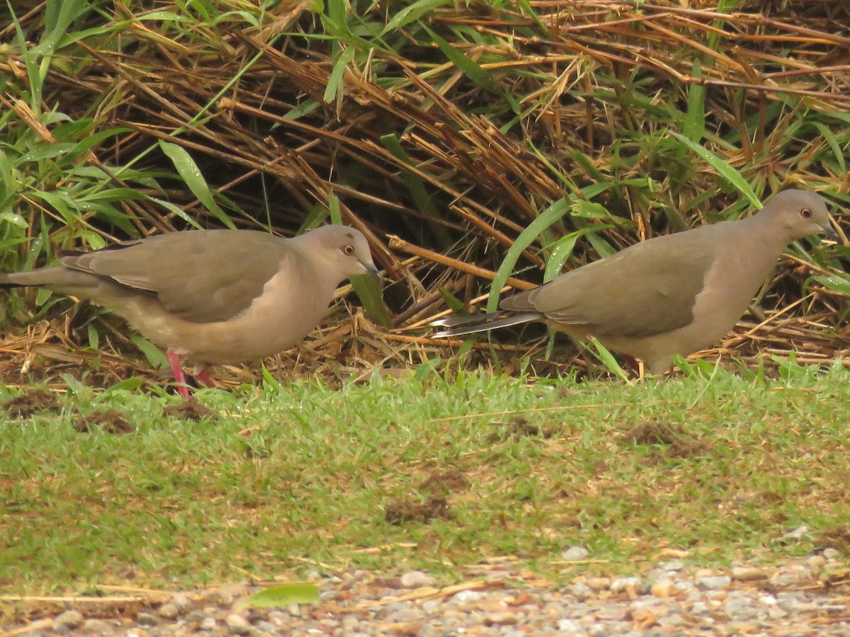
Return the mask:
<path id="1" fill-rule="evenodd" d="M 541 321 L 578 339 L 595 336 L 660 375 L 674 356 L 732 330 L 785 246 L 811 234 L 837 237 L 824 200 L 785 190 L 751 217 L 630 245 L 507 297 L 497 313 L 434 321 L 448 328 L 435 336 Z"/>

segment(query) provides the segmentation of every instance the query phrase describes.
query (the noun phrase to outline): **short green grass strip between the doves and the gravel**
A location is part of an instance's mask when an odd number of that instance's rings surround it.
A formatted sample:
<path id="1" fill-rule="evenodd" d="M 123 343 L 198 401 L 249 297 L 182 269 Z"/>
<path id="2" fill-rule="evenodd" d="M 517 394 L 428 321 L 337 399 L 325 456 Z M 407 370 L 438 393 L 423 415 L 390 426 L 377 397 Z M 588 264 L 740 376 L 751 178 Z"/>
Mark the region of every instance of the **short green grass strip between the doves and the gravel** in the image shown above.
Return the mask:
<path id="1" fill-rule="evenodd" d="M 789 528 L 804 523 L 817 538 L 850 514 L 850 375 L 790 365 L 785 376 L 305 381 L 199 392 L 217 412 L 199 422 L 163 416 L 173 398 L 78 393 L 62 414 L 0 423 L 0 588 L 350 567 L 450 581 L 499 555 L 558 581 L 637 572 L 663 548 L 708 564 L 780 561 L 814 545 L 779 543 Z M 136 430 L 74 429 L 77 410 L 107 408 Z M 647 423 L 678 441 L 624 437 Z M 433 492 L 449 519 L 384 520 L 391 503 L 425 501 L 422 482 L 447 470 L 470 482 Z M 607 562 L 559 561 L 573 544 Z"/>

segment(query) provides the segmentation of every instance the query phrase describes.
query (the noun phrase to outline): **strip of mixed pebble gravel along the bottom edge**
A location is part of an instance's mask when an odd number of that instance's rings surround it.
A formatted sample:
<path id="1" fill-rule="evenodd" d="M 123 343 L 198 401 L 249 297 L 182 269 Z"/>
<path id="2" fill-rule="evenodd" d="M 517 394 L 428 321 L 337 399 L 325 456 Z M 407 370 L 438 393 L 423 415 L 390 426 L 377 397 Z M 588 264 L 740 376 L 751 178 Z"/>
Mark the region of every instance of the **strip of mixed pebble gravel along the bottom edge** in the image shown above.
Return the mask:
<path id="1" fill-rule="evenodd" d="M 580 576 L 557 584 L 500 564 L 486 576 L 442 588 L 427 572 L 376 576 L 357 570 L 325 578 L 317 575 L 321 601 L 314 606 L 237 611 L 235 602 L 258 587 L 235 583 L 157 593 L 129 613 L 91 598 L 52 618 L 10 623 L 0 631 L 36 637 L 830 637 L 850 634 L 850 578 L 839 557 L 810 555 L 781 567 L 740 562 L 717 571 L 668 561 L 632 576 Z"/>

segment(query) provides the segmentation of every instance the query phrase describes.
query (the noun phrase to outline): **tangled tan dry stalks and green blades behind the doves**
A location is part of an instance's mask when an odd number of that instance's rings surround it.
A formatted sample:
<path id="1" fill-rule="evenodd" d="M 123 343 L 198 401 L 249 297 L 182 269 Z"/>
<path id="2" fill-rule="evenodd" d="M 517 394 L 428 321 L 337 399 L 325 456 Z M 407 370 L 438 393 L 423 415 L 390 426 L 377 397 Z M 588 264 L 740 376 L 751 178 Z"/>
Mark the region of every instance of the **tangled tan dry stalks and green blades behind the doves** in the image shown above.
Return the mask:
<path id="1" fill-rule="evenodd" d="M 50 35 L 50 3 L 34 3 L 16 15 L 18 26 L 0 30 L 9 42 L 3 104 L 33 144 L 61 141 L 51 110 L 91 121 L 91 134 L 115 130 L 74 166 L 140 195 L 114 202 L 119 222 L 82 208 L 65 214 L 20 189 L 19 253 L 39 235 L 49 235 L 39 247 L 48 254 L 50 245 L 79 244 L 82 230 L 121 238 L 186 227 L 144 197 L 220 225 L 157 142 L 178 144 L 237 226 L 292 233 L 319 223 L 338 198 L 342 221 L 365 232 L 386 269 L 396 330 L 383 333 L 362 314 L 331 323 L 289 352 L 283 369 L 347 376 L 448 356 L 456 342 L 407 328 L 445 312 L 446 294 L 484 298 L 506 255 L 516 261 L 508 282 L 529 285 L 547 263 L 573 268 L 721 212 L 748 213 L 717 161 L 760 196 L 805 187 L 836 211 L 847 202 L 847 4 L 720 5 L 434 0 L 329 2 L 320 12 L 307 2 L 236 2 L 210 3 L 218 14 L 201 15 L 168 2 L 94 3 L 66 30 L 39 101 L 27 55 Z M 125 166 L 144 174 L 124 178 Z M 74 170 L 39 177 L 27 188 L 61 192 L 81 179 Z M 508 252 L 520 237 L 527 247 Z M 767 310 L 788 309 L 763 321 L 748 315 L 720 350 L 768 366 L 790 351 L 814 363 L 846 354 L 846 258 L 840 246 L 792 251 L 762 298 Z M 812 276 L 821 279 L 804 286 Z M 38 372 L 45 361 L 51 376 L 86 364 L 87 354 L 65 347 L 85 345 L 85 332 L 55 316 L 6 341 L 8 374 Z M 118 351 L 134 349 L 121 329 L 99 329 Z M 501 361 L 508 369 L 527 351 L 512 345 Z M 473 360 L 490 360 L 490 345 L 477 347 L 487 355 Z M 540 373 L 587 366 L 575 347 L 558 352 Z M 146 368 L 101 360 L 102 382 Z"/>

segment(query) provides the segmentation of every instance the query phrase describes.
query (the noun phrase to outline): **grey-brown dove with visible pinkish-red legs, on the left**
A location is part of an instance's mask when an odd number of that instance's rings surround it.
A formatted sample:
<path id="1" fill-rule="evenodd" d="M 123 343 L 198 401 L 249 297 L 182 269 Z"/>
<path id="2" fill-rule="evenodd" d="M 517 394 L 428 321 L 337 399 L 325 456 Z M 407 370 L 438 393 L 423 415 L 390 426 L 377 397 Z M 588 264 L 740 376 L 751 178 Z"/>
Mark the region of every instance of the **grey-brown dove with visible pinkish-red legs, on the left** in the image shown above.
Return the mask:
<path id="1" fill-rule="evenodd" d="M 191 230 L 60 251 L 59 265 L 0 274 L 0 286 L 33 285 L 90 300 L 167 349 L 178 391 L 180 357 L 246 363 L 308 335 L 333 292 L 358 274 L 379 276 L 354 228 L 328 225 L 283 239 L 257 230 Z M 207 369 L 196 375 L 211 385 Z"/>

